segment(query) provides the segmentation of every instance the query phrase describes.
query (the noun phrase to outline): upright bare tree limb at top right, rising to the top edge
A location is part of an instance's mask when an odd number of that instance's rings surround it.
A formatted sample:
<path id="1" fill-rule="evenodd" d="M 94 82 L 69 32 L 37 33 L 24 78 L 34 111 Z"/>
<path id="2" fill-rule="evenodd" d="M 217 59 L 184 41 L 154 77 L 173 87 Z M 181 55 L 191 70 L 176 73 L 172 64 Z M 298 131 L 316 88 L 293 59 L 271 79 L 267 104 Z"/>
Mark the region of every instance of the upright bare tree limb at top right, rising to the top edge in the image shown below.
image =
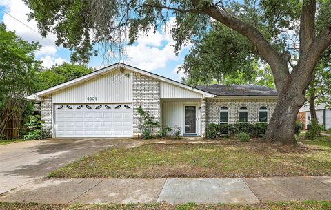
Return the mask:
<path id="1" fill-rule="evenodd" d="M 316 0 L 303 0 L 300 20 L 300 54 L 307 52 L 315 38 Z"/>

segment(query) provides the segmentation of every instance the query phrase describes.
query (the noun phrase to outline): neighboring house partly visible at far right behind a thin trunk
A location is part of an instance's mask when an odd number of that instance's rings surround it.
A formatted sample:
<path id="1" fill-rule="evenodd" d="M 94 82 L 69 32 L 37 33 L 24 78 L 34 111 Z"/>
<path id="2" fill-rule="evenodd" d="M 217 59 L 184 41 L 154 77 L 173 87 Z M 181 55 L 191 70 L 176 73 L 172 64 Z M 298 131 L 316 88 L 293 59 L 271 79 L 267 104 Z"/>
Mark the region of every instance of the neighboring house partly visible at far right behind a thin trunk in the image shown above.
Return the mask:
<path id="1" fill-rule="evenodd" d="M 320 125 L 325 125 L 325 129 L 331 128 L 331 109 L 325 108 L 325 103 L 321 103 L 315 107 L 316 109 L 316 116 L 317 121 Z M 310 120 L 312 120 L 310 111 L 309 111 L 309 104 L 304 105 L 299 110 L 299 121 L 303 124 L 303 129 L 308 129 Z"/>

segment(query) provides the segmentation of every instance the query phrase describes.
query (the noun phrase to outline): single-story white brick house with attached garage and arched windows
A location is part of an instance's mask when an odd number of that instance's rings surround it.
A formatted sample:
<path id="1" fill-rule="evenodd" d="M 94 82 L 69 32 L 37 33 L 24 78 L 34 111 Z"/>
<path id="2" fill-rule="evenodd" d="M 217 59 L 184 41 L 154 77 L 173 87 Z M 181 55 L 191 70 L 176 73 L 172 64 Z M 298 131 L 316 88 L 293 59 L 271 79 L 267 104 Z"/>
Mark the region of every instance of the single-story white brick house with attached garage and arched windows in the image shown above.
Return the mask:
<path id="1" fill-rule="evenodd" d="M 139 136 L 139 106 L 161 127 L 205 136 L 209 123 L 268 122 L 277 92 L 254 85 L 194 88 L 116 63 L 28 98 L 41 101 L 41 118 L 53 137 Z"/>

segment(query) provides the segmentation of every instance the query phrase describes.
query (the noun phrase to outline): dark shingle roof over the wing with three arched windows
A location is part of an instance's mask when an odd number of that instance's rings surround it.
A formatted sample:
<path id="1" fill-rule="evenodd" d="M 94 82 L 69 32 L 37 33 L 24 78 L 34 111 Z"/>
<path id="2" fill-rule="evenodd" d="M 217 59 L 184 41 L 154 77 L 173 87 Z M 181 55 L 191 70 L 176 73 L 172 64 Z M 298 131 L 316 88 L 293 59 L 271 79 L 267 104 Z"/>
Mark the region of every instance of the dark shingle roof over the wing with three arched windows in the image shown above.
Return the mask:
<path id="1" fill-rule="evenodd" d="M 217 96 L 277 96 L 277 91 L 259 85 L 198 85 L 197 88 Z"/>

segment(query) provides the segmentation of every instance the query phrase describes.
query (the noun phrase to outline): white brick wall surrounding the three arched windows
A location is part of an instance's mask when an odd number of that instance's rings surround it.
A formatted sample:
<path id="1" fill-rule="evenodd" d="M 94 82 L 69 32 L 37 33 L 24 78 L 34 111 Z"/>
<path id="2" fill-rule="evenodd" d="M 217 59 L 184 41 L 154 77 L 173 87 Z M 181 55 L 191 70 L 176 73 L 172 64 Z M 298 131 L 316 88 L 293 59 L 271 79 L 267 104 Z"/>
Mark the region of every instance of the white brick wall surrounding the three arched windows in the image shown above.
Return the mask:
<path id="1" fill-rule="evenodd" d="M 259 122 L 259 109 L 264 106 L 268 109 L 268 120 L 274 112 L 277 99 L 221 99 L 212 98 L 206 101 L 206 124 L 219 123 L 219 110 L 228 107 L 229 123 L 239 122 L 239 109 L 242 106 L 248 108 L 248 122 Z"/>

